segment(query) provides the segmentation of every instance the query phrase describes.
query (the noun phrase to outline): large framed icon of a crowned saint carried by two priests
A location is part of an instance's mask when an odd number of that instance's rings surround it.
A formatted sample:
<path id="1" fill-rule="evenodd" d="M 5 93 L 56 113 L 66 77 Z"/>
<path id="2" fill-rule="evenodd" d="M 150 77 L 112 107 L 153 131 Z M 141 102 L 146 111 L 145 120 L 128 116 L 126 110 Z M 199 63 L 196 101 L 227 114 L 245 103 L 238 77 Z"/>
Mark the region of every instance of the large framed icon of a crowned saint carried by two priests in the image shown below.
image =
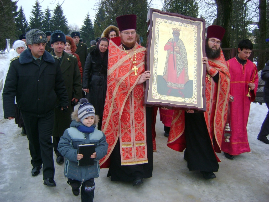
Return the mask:
<path id="1" fill-rule="evenodd" d="M 150 9 L 146 106 L 206 110 L 205 20 Z"/>

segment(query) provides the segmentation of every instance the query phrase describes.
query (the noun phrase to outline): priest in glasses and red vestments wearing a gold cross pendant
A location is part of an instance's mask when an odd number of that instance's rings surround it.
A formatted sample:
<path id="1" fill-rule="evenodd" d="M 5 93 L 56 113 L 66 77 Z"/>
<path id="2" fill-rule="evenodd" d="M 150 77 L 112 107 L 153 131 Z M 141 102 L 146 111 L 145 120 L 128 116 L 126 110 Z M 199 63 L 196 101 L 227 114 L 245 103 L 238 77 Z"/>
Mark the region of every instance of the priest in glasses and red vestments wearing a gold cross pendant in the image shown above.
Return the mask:
<path id="1" fill-rule="evenodd" d="M 146 48 L 136 43 L 136 15 L 116 18 L 119 37 L 109 41 L 107 94 L 102 131 L 108 154 L 100 160 L 111 181 L 142 184 L 152 176 L 151 108 L 143 106 Z"/>

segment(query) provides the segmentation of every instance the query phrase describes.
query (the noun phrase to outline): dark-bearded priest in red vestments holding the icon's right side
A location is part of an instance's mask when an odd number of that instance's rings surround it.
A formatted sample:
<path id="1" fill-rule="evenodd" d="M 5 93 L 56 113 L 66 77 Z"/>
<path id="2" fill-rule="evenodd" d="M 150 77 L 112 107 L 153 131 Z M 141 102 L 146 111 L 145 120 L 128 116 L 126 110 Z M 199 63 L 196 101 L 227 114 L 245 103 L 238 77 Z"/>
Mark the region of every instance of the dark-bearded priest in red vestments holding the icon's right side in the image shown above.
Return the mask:
<path id="1" fill-rule="evenodd" d="M 225 127 L 229 71 L 220 48 L 225 29 L 212 25 L 207 28 L 205 90 L 206 112 L 175 110 L 167 146 L 182 152 L 189 170 L 200 170 L 205 179 L 215 178 L 220 159 L 215 152 L 221 152 L 222 134 Z"/>

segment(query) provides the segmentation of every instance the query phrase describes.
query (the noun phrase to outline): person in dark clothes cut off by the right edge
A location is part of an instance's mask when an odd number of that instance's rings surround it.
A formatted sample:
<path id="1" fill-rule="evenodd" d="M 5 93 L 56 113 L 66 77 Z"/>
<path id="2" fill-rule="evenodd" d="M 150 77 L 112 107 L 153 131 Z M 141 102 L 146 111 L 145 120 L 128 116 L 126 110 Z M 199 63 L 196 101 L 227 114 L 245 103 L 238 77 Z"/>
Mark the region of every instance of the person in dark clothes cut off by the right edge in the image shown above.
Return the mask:
<path id="1" fill-rule="evenodd" d="M 269 60 L 261 72 L 261 79 L 265 81 L 263 87 L 263 99 L 268 108 L 267 115 L 261 125 L 260 133 L 258 134 L 257 139 L 262 141 L 265 144 L 269 144 L 269 140 L 267 139 L 267 135 L 269 134 Z"/>

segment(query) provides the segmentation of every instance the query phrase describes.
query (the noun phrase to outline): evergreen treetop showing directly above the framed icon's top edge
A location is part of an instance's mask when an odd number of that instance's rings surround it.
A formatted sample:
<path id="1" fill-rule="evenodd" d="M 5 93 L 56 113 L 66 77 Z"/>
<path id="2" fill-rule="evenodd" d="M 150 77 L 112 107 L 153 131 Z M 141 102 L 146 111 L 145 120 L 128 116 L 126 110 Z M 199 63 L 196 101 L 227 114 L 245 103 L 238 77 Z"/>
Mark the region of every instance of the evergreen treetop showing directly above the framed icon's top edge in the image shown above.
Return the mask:
<path id="1" fill-rule="evenodd" d="M 162 10 L 197 18 L 198 3 L 195 0 L 164 0 Z"/>

